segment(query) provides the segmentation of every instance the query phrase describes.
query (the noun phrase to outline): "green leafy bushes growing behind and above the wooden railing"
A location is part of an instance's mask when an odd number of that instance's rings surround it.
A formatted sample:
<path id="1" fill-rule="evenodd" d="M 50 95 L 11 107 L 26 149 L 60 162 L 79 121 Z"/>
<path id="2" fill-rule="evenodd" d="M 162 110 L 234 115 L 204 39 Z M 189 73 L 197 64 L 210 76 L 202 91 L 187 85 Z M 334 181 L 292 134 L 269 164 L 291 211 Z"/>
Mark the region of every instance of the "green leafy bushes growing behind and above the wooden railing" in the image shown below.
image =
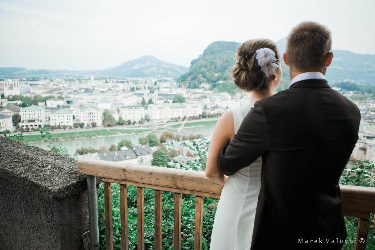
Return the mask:
<path id="1" fill-rule="evenodd" d="M 206 162 L 206 153 L 204 150 L 198 150 L 197 145 L 197 160 L 188 162 L 188 164 L 180 168 L 204 170 Z M 165 156 L 163 159 L 162 156 Z M 154 153 L 153 165 L 160 167 L 175 167 L 177 163 L 171 162 L 171 157 L 157 151 Z M 178 165 L 178 164 L 177 164 Z M 369 162 L 357 162 L 353 165 L 348 164 L 340 183 L 345 185 L 361 185 L 373 187 L 373 173 L 374 165 Z M 120 225 L 120 189 L 118 184 L 112 184 L 112 215 L 113 215 L 113 235 L 114 247 L 121 248 L 121 225 Z M 182 248 L 193 249 L 194 242 L 194 209 L 195 198 L 193 195 L 182 195 Z M 137 247 L 137 193 L 136 187 L 128 186 L 128 239 L 129 249 Z M 144 190 L 144 218 L 145 218 L 145 248 L 154 249 L 154 191 L 151 189 Z M 204 214 L 203 214 L 203 249 L 209 249 L 211 231 L 214 222 L 217 199 L 204 199 Z M 101 184 L 99 187 L 99 230 L 100 230 L 100 245 L 105 247 L 105 219 L 104 219 L 104 188 Z M 358 219 L 353 217 L 345 217 L 347 228 L 347 240 L 354 240 L 358 225 Z M 367 241 L 367 249 L 375 249 L 375 234 L 373 228 L 373 215 L 370 217 L 370 230 Z M 170 249 L 173 247 L 173 193 L 163 192 L 163 216 L 162 216 L 162 231 L 163 231 L 163 248 Z M 343 249 L 354 249 L 354 244 L 347 243 Z"/>

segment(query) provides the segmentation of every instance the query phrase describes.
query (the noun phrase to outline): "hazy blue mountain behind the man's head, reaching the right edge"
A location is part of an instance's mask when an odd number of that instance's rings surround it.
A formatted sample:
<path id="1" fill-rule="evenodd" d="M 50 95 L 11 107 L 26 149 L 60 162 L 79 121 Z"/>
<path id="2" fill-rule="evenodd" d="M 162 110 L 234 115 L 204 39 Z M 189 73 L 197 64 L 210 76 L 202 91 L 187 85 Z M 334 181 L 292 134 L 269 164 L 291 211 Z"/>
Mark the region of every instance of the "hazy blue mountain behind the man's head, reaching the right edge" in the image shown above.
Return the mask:
<path id="1" fill-rule="evenodd" d="M 280 55 L 285 52 L 285 47 L 285 38 L 277 41 Z M 375 84 L 375 55 L 357 54 L 345 50 L 332 50 L 332 52 L 332 64 L 328 67 L 326 74 L 329 82 Z"/>

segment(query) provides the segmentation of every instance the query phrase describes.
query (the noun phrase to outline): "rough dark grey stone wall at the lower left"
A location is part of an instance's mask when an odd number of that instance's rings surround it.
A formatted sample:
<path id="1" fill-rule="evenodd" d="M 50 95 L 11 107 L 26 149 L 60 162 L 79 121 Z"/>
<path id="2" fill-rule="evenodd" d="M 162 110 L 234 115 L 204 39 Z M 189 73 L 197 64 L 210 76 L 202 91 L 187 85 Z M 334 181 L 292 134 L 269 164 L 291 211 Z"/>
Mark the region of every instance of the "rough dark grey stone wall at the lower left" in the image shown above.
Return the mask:
<path id="1" fill-rule="evenodd" d="M 77 162 L 0 137 L 0 249 L 83 249 L 88 228 Z"/>

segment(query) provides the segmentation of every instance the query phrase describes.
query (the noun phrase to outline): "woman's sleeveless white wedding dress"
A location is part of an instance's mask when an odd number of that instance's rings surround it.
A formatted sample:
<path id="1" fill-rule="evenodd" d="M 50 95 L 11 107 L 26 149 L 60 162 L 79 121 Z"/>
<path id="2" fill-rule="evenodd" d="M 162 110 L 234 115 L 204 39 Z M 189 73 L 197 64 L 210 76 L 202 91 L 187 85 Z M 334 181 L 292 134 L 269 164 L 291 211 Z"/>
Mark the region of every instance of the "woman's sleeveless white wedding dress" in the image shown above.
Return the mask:
<path id="1" fill-rule="evenodd" d="M 233 109 L 235 134 L 254 106 Z M 260 190 L 262 158 L 228 177 L 216 209 L 210 248 L 213 250 L 250 249 L 255 210 Z"/>

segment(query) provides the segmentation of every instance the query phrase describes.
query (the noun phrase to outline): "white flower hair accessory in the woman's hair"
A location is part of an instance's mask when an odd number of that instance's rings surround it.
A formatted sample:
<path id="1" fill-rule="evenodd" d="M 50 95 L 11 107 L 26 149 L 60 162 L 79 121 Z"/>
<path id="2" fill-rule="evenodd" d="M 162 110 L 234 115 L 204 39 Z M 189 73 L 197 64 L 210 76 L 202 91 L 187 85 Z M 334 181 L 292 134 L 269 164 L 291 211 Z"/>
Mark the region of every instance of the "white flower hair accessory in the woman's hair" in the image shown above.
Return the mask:
<path id="1" fill-rule="evenodd" d="M 280 67 L 275 55 L 275 52 L 269 48 L 258 49 L 254 54 L 260 66 L 260 70 L 266 77 L 275 74 L 276 70 Z"/>

